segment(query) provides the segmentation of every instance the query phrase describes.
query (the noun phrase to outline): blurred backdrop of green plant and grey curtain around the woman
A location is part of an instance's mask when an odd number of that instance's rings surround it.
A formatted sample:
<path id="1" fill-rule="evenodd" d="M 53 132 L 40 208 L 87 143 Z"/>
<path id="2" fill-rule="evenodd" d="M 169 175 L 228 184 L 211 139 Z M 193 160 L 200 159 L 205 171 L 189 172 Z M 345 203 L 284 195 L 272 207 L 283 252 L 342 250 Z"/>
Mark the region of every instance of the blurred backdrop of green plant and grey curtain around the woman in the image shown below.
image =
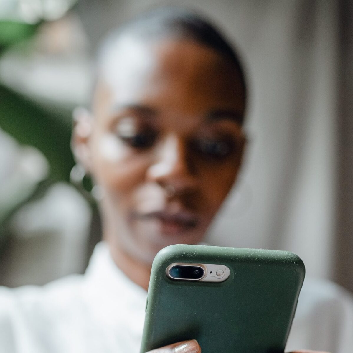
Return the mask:
<path id="1" fill-rule="evenodd" d="M 69 183 L 72 110 L 106 32 L 165 4 L 213 19 L 249 81 L 245 163 L 207 240 L 293 251 L 353 292 L 349 0 L 0 0 L 0 285 L 84 271 L 100 220 Z"/>

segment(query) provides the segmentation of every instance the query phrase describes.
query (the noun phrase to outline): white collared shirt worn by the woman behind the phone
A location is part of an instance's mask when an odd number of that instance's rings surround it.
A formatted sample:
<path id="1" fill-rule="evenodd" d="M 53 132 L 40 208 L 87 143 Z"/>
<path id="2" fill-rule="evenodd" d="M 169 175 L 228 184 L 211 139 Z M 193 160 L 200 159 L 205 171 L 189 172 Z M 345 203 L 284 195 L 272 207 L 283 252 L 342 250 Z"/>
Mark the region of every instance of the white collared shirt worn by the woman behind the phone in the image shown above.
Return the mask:
<path id="1" fill-rule="evenodd" d="M 146 291 L 97 244 L 84 275 L 43 287 L 0 287 L 0 352 L 138 353 Z M 304 282 L 287 344 L 353 352 L 353 299 L 333 283 Z"/>

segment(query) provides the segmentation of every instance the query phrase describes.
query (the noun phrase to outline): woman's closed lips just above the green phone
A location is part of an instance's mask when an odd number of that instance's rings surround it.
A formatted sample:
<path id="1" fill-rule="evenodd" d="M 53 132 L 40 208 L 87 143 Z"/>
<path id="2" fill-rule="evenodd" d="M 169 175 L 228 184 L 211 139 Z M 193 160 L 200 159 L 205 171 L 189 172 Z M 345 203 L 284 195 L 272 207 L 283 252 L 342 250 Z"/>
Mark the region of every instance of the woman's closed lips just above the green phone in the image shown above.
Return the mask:
<path id="1" fill-rule="evenodd" d="M 140 220 L 156 221 L 160 224 L 164 234 L 180 234 L 195 228 L 198 224 L 198 217 L 186 210 L 175 213 L 168 211 L 153 211 L 149 213 L 135 213 L 134 218 Z"/>

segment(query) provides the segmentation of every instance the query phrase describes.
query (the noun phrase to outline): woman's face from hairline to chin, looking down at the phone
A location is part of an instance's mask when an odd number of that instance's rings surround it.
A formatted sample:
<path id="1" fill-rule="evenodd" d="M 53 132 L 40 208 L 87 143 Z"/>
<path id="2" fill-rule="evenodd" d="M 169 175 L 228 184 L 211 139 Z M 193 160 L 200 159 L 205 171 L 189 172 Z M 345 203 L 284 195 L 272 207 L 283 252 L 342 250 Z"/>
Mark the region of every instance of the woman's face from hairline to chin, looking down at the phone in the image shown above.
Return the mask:
<path id="1" fill-rule="evenodd" d="M 110 245 L 151 262 L 164 246 L 199 243 L 237 177 L 243 114 L 239 73 L 212 49 L 130 40 L 112 50 L 81 141 Z"/>

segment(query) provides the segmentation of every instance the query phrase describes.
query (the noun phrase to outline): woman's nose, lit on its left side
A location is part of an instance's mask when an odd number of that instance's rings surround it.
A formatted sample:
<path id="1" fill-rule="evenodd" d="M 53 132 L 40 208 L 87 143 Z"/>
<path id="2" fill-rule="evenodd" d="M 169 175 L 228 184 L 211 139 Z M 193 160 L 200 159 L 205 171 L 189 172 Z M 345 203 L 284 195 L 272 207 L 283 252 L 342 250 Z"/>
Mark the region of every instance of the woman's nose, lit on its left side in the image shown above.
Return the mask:
<path id="1" fill-rule="evenodd" d="M 193 167 L 185 141 L 168 136 L 156 150 L 155 160 L 147 171 L 148 179 L 164 189 L 172 187 L 178 194 L 192 192 L 197 186 Z"/>

